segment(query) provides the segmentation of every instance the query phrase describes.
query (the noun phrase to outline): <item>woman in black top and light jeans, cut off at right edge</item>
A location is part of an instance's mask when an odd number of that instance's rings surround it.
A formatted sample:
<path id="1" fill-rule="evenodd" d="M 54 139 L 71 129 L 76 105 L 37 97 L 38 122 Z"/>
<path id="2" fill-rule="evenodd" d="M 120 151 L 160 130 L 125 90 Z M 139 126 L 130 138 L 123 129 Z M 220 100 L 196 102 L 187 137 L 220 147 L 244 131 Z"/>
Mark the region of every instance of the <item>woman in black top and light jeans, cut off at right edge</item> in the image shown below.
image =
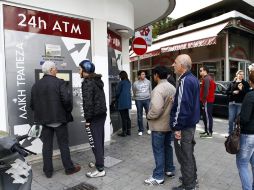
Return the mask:
<path id="1" fill-rule="evenodd" d="M 254 88 L 254 72 L 249 75 L 249 84 Z M 236 154 L 236 165 L 243 190 L 254 188 L 254 91 L 248 92 L 240 113 L 240 151 Z M 251 165 L 252 173 L 249 171 Z"/>

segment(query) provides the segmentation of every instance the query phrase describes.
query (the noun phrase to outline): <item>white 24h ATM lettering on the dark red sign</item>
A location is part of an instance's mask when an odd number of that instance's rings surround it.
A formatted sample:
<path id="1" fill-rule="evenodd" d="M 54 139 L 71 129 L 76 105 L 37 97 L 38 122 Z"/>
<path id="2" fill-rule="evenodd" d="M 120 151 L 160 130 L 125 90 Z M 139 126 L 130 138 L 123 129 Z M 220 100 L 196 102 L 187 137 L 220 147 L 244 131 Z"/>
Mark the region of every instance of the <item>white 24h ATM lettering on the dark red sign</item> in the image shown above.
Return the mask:
<path id="1" fill-rule="evenodd" d="M 44 30 L 48 28 L 47 22 L 43 20 L 41 17 L 32 16 L 30 19 L 28 19 L 25 14 L 18 14 L 18 17 L 21 19 L 20 22 L 18 23 L 18 25 L 21 27 L 31 26 L 34 28 L 39 28 Z M 75 24 L 69 23 L 66 21 L 59 22 L 56 20 L 55 24 L 53 24 L 53 28 L 50 30 L 60 31 L 60 32 L 63 31 L 66 33 L 70 32 L 70 33 L 82 34 L 79 25 L 76 26 Z"/>

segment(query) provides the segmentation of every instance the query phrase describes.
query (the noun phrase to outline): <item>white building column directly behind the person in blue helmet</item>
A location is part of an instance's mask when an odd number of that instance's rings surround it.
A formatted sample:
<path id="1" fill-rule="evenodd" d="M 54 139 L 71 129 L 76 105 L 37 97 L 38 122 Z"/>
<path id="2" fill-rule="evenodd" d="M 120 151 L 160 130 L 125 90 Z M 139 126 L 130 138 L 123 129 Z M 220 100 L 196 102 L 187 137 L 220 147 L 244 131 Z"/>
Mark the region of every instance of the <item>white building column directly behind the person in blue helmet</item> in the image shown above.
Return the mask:
<path id="1" fill-rule="evenodd" d="M 93 19 L 92 25 L 92 61 L 95 72 L 102 75 L 106 96 L 107 118 L 105 122 L 105 142 L 110 141 L 110 109 L 109 109 L 109 80 L 108 80 L 108 45 L 107 22 Z"/>

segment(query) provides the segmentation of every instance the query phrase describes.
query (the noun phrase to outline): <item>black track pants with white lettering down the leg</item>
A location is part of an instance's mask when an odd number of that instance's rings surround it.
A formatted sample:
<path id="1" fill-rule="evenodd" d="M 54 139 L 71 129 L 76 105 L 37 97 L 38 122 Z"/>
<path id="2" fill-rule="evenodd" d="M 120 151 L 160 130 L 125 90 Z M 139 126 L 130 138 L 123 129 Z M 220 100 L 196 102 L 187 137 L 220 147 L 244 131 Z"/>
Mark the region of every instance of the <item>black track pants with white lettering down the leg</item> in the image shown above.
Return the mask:
<path id="1" fill-rule="evenodd" d="M 95 166 L 99 171 L 104 170 L 104 124 L 106 116 L 106 114 L 95 116 L 90 122 L 90 127 L 86 126 L 89 143 L 95 157 Z"/>

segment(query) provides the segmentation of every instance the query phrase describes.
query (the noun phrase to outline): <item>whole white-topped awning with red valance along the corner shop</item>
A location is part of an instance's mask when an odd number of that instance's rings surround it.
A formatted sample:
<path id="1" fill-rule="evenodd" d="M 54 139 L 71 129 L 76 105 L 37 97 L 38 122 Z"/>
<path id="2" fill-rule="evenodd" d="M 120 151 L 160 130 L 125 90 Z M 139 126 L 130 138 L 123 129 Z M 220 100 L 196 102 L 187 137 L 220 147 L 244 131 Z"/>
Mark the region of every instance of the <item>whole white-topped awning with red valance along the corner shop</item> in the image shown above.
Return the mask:
<path id="1" fill-rule="evenodd" d="M 218 33 L 227 26 L 228 22 L 218 24 L 215 26 L 207 27 L 195 32 L 190 32 L 177 36 L 171 39 L 167 39 L 148 47 L 147 53 L 140 56 L 140 59 L 146 59 L 149 57 L 157 56 L 161 53 L 177 51 L 201 46 L 208 46 L 216 44 L 216 37 Z M 130 61 L 137 61 L 138 56 L 133 53 Z"/>

